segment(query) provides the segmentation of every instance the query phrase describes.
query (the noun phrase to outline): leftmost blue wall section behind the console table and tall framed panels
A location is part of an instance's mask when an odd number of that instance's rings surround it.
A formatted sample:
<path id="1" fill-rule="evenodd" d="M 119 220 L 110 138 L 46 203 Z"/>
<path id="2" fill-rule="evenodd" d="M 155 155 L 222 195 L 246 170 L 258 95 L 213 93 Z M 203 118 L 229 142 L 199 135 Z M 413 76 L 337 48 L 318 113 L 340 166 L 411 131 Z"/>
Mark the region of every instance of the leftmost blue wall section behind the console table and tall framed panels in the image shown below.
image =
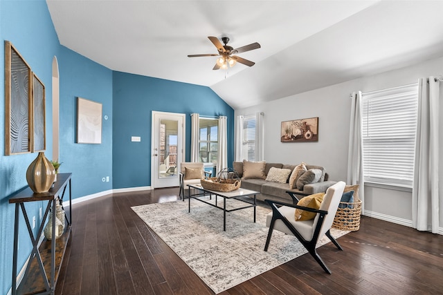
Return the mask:
<path id="1" fill-rule="evenodd" d="M 15 206 L 9 196 L 26 187 L 26 169 L 37 153 L 5 156 L 4 41 L 12 42 L 46 90 L 46 155 L 52 155 L 52 61 L 60 43 L 45 1 L 0 1 L 0 294 L 7 294 L 12 281 L 12 251 Z M 50 158 L 51 159 L 51 158 Z M 39 223 L 43 202 L 26 204 L 31 220 Z M 32 249 L 24 218 L 20 218 L 19 268 Z M 37 227 L 33 230 L 37 234 Z"/>

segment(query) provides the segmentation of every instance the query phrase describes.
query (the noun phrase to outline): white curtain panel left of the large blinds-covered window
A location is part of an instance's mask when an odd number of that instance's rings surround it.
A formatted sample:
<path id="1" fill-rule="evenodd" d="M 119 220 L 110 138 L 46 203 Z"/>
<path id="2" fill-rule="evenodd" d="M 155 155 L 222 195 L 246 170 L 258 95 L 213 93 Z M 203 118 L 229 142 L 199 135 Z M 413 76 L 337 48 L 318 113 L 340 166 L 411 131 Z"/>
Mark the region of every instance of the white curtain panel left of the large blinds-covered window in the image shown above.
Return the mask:
<path id="1" fill-rule="evenodd" d="M 352 93 L 349 152 L 347 153 L 347 184 L 360 184 L 361 213 L 365 208 L 365 184 L 363 177 L 363 140 L 361 124 L 361 91 Z"/>

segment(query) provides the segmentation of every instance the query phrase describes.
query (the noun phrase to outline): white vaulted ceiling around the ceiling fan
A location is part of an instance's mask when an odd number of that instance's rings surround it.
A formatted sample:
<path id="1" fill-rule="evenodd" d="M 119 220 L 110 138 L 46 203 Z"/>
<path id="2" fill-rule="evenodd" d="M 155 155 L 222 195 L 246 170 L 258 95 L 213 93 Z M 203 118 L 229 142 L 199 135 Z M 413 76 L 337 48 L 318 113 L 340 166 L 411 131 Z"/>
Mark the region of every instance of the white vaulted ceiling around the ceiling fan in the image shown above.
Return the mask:
<path id="1" fill-rule="evenodd" d="M 244 108 L 443 56 L 443 1 L 47 0 L 60 43 L 111 70 L 209 86 Z M 208 36 L 255 61 L 212 70 Z M 442 69 L 443 70 L 443 69 Z"/>

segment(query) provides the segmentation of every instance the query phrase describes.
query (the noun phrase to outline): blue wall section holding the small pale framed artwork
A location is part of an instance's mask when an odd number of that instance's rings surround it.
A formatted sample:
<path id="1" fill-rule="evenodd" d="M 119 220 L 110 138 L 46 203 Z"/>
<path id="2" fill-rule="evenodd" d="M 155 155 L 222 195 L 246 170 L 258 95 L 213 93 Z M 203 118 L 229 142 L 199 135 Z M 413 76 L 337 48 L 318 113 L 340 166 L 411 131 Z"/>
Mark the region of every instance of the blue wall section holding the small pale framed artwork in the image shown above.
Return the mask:
<path id="1" fill-rule="evenodd" d="M 72 173 L 73 198 L 112 189 L 112 71 L 64 46 L 58 63 L 60 172 Z M 78 97 L 102 104 L 101 144 L 76 143 Z"/>

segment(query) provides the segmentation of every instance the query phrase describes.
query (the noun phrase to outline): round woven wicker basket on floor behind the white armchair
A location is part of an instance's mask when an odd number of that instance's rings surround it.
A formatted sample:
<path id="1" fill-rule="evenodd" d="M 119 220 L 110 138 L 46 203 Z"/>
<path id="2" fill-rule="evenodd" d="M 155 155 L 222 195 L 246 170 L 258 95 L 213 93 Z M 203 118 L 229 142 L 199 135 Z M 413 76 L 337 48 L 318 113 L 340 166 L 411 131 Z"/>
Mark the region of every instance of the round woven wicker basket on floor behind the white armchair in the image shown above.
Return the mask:
<path id="1" fill-rule="evenodd" d="M 332 227 L 342 231 L 358 231 L 360 229 L 361 200 L 359 202 L 340 202 Z"/>

